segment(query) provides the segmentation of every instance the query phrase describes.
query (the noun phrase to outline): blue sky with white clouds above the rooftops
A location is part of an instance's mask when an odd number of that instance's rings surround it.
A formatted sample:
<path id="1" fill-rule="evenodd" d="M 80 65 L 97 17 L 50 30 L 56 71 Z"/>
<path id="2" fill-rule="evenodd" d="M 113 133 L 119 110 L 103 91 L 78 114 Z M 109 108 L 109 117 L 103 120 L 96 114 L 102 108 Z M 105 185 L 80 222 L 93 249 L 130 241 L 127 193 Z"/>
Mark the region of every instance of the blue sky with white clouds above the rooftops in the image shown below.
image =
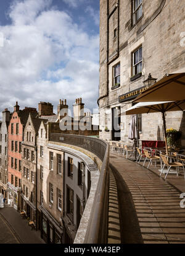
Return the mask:
<path id="1" fill-rule="evenodd" d="M 0 111 L 82 97 L 97 108 L 99 0 L 6 0 L 0 9 Z"/>

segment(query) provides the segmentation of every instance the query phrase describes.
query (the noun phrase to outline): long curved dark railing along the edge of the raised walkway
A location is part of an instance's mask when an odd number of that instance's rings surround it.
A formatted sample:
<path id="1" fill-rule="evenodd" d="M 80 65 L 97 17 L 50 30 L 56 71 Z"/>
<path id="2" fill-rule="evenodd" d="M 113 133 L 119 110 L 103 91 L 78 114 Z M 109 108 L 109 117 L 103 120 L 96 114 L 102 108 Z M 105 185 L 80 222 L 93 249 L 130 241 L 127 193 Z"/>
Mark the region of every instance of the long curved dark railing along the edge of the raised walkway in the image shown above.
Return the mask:
<path id="1" fill-rule="evenodd" d="M 84 244 L 106 244 L 109 221 L 109 144 L 97 138 L 56 133 L 51 134 L 50 140 L 78 146 L 92 152 L 101 159 L 102 169 L 94 195 L 94 203 L 91 207 L 88 227 L 84 234 Z"/>

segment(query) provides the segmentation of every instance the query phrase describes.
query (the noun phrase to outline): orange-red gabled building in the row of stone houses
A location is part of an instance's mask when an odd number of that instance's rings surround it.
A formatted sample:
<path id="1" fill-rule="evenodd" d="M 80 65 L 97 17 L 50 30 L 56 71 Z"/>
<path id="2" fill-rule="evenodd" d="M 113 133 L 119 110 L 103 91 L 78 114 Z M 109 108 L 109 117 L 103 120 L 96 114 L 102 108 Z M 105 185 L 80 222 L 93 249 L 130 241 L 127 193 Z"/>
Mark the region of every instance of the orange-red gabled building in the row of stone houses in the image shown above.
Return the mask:
<path id="1" fill-rule="evenodd" d="M 7 199 L 10 205 L 14 205 L 16 210 L 20 210 L 20 193 L 22 190 L 22 141 L 23 130 L 31 112 L 34 117 L 38 115 L 36 108 L 25 107 L 19 109 L 16 102 L 14 113 L 10 118 L 8 126 L 8 182 Z"/>

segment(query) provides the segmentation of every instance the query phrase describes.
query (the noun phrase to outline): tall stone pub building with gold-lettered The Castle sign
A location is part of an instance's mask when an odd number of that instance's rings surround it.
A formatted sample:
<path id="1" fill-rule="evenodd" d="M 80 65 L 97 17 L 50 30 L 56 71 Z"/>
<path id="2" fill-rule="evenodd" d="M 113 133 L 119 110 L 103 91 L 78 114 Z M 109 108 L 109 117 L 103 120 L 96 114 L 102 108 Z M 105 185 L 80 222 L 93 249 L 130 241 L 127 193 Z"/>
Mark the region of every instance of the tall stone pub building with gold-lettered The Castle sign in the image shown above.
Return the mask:
<path id="1" fill-rule="evenodd" d="M 130 116 L 119 113 L 145 90 L 151 73 L 185 72 L 184 1 L 100 0 L 100 138 L 128 141 Z M 117 117 L 113 115 L 116 113 Z M 167 128 L 183 131 L 183 112 L 167 112 Z M 162 140 L 161 113 L 139 116 L 141 140 Z"/>

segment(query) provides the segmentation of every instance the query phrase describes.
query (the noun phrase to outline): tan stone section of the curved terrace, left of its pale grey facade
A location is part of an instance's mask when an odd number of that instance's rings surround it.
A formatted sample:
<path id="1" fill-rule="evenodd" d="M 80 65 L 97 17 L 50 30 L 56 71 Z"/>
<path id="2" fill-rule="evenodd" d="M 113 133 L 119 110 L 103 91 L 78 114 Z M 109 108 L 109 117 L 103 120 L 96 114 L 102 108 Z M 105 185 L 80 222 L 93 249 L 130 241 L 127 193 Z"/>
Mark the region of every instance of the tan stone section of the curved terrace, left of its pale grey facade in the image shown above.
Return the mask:
<path id="1" fill-rule="evenodd" d="M 37 138 L 38 227 L 45 242 L 60 243 L 63 233 L 61 215 L 64 156 L 62 152 L 56 154 L 47 148 L 47 138 L 47 125 L 41 121 Z"/>

